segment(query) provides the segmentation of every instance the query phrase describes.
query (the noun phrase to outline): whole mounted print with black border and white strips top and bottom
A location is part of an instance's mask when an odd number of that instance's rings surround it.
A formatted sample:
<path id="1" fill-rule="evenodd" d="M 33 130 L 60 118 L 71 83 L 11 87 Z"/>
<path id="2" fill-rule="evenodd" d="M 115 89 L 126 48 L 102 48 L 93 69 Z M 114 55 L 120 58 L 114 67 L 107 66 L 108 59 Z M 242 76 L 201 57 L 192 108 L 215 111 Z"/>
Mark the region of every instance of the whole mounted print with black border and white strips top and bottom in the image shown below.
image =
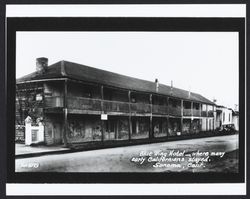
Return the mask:
<path id="1" fill-rule="evenodd" d="M 56 7 L 7 12 L 8 193 L 244 193 L 244 6 Z"/>

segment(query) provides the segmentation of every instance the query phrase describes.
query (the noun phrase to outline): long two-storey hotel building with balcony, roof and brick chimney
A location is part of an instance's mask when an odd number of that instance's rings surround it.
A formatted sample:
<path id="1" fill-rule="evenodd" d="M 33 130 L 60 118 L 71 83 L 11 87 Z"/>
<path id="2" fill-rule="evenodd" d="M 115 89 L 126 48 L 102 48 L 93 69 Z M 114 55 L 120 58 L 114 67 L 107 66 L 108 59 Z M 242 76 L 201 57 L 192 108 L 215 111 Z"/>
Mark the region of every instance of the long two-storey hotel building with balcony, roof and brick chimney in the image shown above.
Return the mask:
<path id="1" fill-rule="evenodd" d="M 17 79 L 16 124 L 43 122 L 44 142 L 119 143 L 213 131 L 215 104 L 205 97 L 155 82 L 68 61 Z"/>

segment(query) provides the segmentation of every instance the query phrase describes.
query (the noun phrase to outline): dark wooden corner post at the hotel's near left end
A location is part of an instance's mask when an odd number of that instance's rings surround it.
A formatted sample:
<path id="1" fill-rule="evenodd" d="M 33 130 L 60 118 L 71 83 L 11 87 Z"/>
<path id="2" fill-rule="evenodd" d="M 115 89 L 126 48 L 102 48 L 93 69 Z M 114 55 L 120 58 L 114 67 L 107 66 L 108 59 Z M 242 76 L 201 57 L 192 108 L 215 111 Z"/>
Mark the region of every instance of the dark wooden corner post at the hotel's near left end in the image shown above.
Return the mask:
<path id="1" fill-rule="evenodd" d="M 64 115 L 64 130 L 63 130 L 63 143 L 64 146 L 68 146 L 67 141 L 67 134 L 68 134 L 68 103 L 67 103 L 67 96 L 68 96 L 68 80 L 66 79 L 64 82 L 64 109 L 63 109 L 63 115 Z"/>

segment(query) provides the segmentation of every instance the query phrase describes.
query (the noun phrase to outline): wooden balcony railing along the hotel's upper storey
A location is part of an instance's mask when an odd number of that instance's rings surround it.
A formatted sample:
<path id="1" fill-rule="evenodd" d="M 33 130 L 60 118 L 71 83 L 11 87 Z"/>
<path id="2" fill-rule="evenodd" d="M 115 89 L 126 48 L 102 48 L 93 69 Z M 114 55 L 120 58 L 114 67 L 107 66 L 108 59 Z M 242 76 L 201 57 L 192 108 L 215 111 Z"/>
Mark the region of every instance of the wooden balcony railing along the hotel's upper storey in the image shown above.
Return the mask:
<path id="1" fill-rule="evenodd" d="M 106 111 L 106 112 L 120 112 L 133 114 L 145 114 L 151 113 L 151 104 L 144 103 L 129 103 L 129 102 L 118 102 L 108 101 L 101 99 L 92 99 L 84 97 L 68 97 L 67 106 L 69 109 L 79 110 L 92 110 L 92 111 Z M 63 97 L 46 97 L 44 100 L 45 108 L 64 107 Z M 163 106 L 163 105 L 152 105 L 152 113 L 154 114 L 170 114 L 174 116 L 181 116 L 181 107 Z M 191 109 L 183 109 L 184 116 L 191 116 Z M 193 109 L 193 116 L 213 116 L 213 112 L 200 111 Z"/>

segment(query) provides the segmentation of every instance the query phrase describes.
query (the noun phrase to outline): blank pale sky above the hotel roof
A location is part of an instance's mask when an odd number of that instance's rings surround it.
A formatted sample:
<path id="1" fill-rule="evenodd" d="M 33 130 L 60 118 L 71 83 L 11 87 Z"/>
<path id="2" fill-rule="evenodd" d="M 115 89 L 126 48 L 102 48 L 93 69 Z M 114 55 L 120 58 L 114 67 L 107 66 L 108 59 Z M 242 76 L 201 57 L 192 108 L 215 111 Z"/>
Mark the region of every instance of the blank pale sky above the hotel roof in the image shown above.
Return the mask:
<path id="1" fill-rule="evenodd" d="M 16 77 L 72 61 L 238 104 L 237 32 L 17 32 Z"/>

